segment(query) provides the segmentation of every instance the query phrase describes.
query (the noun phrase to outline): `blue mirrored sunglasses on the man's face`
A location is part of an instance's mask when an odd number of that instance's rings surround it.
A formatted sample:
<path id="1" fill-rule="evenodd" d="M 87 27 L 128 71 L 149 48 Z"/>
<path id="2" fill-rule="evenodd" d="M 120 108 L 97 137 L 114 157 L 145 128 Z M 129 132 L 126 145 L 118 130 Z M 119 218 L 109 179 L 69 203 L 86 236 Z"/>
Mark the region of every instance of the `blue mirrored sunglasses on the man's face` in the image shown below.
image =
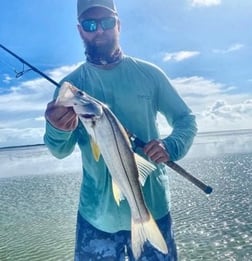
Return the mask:
<path id="1" fill-rule="evenodd" d="M 98 29 L 98 24 L 101 28 L 106 31 L 113 29 L 116 25 L 115 17 L 104 17 L 101 19 L 86 19 L 83 20 L 81 26 L 85 32 L 95 32 Z"/>

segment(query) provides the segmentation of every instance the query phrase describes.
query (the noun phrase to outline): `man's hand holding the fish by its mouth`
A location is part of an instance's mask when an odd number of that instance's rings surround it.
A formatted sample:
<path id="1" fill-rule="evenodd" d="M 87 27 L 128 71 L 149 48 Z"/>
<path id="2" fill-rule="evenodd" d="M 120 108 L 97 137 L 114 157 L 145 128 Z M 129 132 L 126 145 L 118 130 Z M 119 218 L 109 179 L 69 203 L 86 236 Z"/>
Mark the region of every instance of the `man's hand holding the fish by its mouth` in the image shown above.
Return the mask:
<path id="1" fill-rule="evenodd" d="M 72 107 L 56 105 L 55 100 L 47 104 L 45 118 L 57 129 L 72 131 L 78 125 L 78 116 Z"/>

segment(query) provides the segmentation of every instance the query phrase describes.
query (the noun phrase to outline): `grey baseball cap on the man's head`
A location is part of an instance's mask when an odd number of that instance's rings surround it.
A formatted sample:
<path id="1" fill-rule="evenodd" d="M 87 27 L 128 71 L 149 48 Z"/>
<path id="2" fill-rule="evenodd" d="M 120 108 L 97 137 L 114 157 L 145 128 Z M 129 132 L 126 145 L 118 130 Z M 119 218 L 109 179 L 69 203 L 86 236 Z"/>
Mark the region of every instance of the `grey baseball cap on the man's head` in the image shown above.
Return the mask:
<path id="1" fill-rule="evenodd" d="M 77 2 L 77 15 L 78 18 L 89 8 L 103 7 L 116 13 L 116 6 L 113 0 L 78 0 Z"/>

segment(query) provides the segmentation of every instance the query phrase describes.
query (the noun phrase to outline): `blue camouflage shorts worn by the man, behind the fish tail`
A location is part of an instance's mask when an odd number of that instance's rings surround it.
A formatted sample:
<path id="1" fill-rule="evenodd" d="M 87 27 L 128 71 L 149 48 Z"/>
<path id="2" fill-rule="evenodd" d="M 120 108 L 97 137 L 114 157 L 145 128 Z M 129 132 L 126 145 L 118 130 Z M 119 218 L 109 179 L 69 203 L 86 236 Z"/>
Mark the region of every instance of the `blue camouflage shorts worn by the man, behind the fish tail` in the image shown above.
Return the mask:
<path id="1" fill-rule="evenodd" d="M 149 242 L 144 245 L 139 261 L 176 261 L 177 250 L 173 237 L 170 214 L 157 220 L 167 243 L 169 253 L 162 254 Z M 106 233 L 96 229 L 78 213 L 76 228 L 75 261 L 134 261 L 130 231 Z"/>

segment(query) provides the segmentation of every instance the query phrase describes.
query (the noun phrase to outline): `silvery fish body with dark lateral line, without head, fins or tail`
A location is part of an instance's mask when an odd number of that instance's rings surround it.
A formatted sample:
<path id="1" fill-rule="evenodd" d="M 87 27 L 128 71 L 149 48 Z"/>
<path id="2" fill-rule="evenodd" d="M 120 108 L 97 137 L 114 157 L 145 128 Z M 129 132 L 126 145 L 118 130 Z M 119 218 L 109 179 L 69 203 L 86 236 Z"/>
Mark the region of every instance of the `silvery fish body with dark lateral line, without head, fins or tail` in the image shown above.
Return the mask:
<path id="1" fill-rule="evenodd" d="M 146 221 L 149 214 L 139 189 L 139 174 L 127 134 L 106 106 L 103 106 L 103 112 L 95 123 L 94 138 L 112 178 L 127 198 L 132 218 L 137 222 Z"/>

